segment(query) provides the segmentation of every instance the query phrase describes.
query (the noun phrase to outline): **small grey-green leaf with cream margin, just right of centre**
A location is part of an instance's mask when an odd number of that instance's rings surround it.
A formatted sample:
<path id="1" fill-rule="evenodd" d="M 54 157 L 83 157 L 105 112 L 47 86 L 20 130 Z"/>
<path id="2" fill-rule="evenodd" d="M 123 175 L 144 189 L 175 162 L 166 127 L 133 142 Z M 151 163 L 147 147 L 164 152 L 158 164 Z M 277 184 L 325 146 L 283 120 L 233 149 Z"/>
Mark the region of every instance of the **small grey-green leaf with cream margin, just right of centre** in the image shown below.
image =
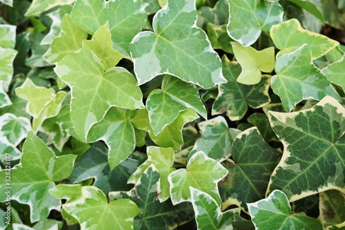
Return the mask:
<path id="1" fill-rule="evenodd" d="M 220 120 L 220 122 L 214 124 L 215 120 Z M 203 151 L 208 157 L 218 162 L 230 157 L 233 140 L 240 131 L 236 128 L 228 128 L 226 119 L 220 116 L 200 122 L 199 125 L 206 125 L 206 127 L 202 131 L 201 137 L 195 142 L 192 151 L 190 151 L 188 160 L 199 151 Z"/>

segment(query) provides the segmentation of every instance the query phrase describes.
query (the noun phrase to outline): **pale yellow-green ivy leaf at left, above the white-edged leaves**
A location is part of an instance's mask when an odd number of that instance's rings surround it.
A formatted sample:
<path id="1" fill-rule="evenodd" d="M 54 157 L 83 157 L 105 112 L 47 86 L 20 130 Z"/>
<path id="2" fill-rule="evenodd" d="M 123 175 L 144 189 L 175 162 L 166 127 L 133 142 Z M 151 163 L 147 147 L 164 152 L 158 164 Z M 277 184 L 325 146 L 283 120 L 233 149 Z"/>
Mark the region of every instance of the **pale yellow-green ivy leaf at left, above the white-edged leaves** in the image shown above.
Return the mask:
<path id="1" fill-rule="evenodd" d="M 38 131 L 45 119 L 55 117 L 60 111 L 66 92 L 60 91 L 55 94 L 53 91 L 36 86 L 30 78 L 27 78 L 20 87 L 15 89 L 18 97 L 28 101 L 26 112 L 34 117 L 32 122 L 34 132 Z"/>

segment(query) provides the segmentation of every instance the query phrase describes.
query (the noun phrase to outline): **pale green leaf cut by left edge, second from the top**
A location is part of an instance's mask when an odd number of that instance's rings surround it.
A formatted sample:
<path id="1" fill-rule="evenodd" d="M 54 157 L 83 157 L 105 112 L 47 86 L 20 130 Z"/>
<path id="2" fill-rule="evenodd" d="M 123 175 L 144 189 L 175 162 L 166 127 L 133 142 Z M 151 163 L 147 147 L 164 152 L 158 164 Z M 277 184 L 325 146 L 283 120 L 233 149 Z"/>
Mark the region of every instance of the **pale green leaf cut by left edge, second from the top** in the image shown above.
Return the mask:
<path id="1" fill-rule="evenodd" d="M 12 48 L 0 47 L 0 81 L 3 83 L 2 88 L 6 92 L 10 86 L 13 75 L 13 60 L 18 51 Z"/>

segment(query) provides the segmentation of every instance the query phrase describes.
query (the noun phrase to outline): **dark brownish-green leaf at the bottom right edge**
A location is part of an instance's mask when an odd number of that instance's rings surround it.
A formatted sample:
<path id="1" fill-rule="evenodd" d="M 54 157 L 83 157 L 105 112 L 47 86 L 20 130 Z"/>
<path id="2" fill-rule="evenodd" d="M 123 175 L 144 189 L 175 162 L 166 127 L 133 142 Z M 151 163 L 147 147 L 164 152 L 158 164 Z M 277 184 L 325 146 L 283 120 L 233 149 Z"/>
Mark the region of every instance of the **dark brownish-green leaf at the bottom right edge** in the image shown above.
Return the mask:
<path id="1" fill-rule="evenodd" d="M 331 189 L 319 193 L 319 221 L 324 227 L 341 224 L 345 220 L 345 195 Z"/>

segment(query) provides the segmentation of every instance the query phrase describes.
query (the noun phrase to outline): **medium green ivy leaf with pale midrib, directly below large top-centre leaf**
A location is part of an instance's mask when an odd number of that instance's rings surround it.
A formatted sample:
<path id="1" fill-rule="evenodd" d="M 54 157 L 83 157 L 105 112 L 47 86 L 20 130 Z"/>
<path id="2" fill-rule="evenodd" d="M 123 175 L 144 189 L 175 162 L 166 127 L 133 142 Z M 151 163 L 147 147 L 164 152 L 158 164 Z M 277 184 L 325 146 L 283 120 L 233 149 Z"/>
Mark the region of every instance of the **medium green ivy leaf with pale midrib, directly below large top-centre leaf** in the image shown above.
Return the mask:
<path id="1" fill-rule="evenodd" d="M 161 90 L 153 90 L 146 102 L 148 118 L 155 135 L 171 124 L 181 111 L 187 108 L 199 113 L 205 119 L 207 111 L 201 102 L 197 87 L 181 81 L 177 77 L 165 75 Z"/>

